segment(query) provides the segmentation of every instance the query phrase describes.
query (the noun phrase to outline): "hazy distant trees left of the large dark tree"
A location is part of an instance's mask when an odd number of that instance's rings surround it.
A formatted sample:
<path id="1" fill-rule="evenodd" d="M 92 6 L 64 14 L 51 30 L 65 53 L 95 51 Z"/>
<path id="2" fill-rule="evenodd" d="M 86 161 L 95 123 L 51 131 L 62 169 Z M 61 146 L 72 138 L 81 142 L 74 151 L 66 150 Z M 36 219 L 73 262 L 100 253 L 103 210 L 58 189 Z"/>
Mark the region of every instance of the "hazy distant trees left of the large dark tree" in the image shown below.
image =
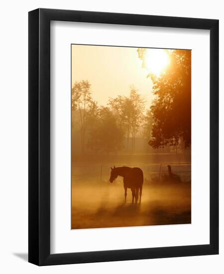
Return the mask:
<path id="1" fill-rule="evenodd" d="M 91 93 L 88 80 L 72 87 L 72 110 L 81 138 L 81 151 L 117 152 L 123 147 L 124 137 L 130 151 L 135 149 L 135 137 L 145 126 L 145 100 L 134 86 L 129 96 L 109 98 L 106 107 L 99 106 Z M 129 143 L 130 142 L 130 143 Z"/>

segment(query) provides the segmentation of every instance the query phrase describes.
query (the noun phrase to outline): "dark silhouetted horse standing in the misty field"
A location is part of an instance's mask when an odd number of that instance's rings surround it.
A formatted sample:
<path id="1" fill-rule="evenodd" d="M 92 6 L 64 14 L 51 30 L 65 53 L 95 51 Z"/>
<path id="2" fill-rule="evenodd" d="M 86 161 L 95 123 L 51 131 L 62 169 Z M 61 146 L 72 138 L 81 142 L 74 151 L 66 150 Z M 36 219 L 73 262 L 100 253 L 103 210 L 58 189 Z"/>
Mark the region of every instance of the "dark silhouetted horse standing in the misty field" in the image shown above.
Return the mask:
<path id="1" fill-rule="evenodd" d="M 138 201 L 138 193 L 139 193 L 139 203 L 141 202 L 141 194 L 142 194 L 142 185 L 143 185 L 143 171 L 139 167 L 111 167 L 111 177 L 110 182 L 112 183 L 117 176 L 123 177 L 123 187 L 124 187 L 124 199 L 126 202 L 127 197 L 127 188 L 131 189 L 132 192 L 132 203 Z"/>

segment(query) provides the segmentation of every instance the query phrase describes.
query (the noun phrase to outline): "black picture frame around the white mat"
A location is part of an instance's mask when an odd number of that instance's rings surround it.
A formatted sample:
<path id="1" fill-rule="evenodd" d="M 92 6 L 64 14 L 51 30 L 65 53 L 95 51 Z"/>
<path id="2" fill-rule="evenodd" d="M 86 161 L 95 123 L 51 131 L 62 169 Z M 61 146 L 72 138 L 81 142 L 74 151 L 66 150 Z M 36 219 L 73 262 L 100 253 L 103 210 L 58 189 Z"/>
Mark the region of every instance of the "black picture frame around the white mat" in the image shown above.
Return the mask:
<path id="1" fill-rule="evenodd" d="M 210 244 L 50 254 L 50 21 L 210 30 Z M 219 20 L 56 10 L 29 12 L 28 261 L 38 266 L 219 253 Z M 202 64 L 203 65 L 203 64 Z"/>

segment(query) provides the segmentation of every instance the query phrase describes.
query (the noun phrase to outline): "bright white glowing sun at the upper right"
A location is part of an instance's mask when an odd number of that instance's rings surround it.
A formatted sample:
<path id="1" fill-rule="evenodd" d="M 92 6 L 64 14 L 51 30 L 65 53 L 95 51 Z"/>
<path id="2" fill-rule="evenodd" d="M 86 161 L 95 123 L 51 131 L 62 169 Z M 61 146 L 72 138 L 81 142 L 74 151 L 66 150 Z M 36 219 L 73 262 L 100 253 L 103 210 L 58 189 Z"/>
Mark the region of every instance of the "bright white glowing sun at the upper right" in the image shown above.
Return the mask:
<path id="1" fill-rule="evenodd" d="M 169 65 L 169 56 L 164 49 L 147 49 L 145 67 L 156 76 L 159 76 Z"/>

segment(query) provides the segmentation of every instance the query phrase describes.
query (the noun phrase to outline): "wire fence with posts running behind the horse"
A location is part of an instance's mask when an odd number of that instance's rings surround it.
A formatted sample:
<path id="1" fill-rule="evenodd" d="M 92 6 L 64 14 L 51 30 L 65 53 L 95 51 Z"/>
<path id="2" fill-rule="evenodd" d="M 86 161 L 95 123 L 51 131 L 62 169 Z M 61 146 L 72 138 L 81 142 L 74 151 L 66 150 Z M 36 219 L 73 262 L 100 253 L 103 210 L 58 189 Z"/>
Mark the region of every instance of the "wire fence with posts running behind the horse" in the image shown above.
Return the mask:
<path id="1" fill-rule="evenodd" d="M 117 166 L 123 166 L 125 164 L 119 163 Z M 191 163 L 155 163 L 155 164 L 128 164 L 130 167 L 139 167 L 144 174 L 145 182 L 160 182 L 164 181 L 171 174 L 178 176 L 180 181 L 186 182 L 191 180 Z M 77 181 L 96 181 L 96 182 L 108 182 L 111 175 L 110 164 L 84 164 L 73 165 L 72 176 Z"/>

